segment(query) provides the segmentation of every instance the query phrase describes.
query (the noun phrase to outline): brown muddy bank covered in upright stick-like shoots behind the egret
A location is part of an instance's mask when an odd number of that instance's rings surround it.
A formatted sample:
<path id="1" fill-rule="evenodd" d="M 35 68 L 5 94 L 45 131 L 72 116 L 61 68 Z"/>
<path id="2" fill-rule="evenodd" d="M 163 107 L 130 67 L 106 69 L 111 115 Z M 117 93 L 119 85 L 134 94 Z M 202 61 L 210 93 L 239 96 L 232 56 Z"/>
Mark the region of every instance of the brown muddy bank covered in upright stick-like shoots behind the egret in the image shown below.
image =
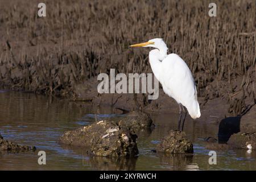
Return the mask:
<path id="1" fill-rule="evenodd" d="M 255 104 L 253 0 L 216 1 L 212 18 L 208 1 L 46 1 L 45 18 L 38 1 L 0 3 L 2 88 L 71 96 L 110 68 L 148 73 L 148 50 L 129 45 L 163 38 L 191 68 L 205 102 L 225 98 L 234 115 Z"/>

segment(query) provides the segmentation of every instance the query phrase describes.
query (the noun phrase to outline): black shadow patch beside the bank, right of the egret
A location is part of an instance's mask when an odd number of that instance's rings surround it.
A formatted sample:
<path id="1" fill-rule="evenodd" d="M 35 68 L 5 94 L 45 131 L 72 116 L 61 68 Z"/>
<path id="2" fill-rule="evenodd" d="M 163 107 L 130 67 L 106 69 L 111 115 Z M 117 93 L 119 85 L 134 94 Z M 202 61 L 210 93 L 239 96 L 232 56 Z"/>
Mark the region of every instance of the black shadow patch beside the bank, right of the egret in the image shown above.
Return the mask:
<path id="1" fill-rule="evenodd" d="M 218 126 L 218 143 L 226 143 L 231 135 L 240 132 L 240 121 L 240 116 L 222 119 Z"/>

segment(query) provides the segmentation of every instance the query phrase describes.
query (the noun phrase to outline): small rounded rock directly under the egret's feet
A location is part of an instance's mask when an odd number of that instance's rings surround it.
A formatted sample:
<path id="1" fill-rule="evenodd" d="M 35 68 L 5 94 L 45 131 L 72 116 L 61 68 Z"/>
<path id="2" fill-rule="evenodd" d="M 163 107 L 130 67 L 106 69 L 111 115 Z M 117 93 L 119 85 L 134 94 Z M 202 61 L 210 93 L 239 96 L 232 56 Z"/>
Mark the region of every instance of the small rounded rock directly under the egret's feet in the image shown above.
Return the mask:
<path id="1" fill-rule="evenodd" d="M 171 131 L 156 146 L 156 151 L 165 152 L 167 154 L 193 153 L 193 144 L 183 131 Z"/>

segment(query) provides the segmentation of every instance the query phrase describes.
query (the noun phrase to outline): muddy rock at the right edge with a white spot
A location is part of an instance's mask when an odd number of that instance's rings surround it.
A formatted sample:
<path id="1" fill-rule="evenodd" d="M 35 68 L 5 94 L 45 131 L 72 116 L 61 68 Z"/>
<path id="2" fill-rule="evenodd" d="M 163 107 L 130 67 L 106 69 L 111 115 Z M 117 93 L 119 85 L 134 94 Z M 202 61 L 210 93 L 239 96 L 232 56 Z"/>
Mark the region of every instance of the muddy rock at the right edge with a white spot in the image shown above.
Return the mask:
<path id="1" fill-rule="evenodd" d="M 229 140 L 228 145 L 233 148 L 252 149 L 256 148 L 256 133 L 237 133 L 233 134 Z"/>

